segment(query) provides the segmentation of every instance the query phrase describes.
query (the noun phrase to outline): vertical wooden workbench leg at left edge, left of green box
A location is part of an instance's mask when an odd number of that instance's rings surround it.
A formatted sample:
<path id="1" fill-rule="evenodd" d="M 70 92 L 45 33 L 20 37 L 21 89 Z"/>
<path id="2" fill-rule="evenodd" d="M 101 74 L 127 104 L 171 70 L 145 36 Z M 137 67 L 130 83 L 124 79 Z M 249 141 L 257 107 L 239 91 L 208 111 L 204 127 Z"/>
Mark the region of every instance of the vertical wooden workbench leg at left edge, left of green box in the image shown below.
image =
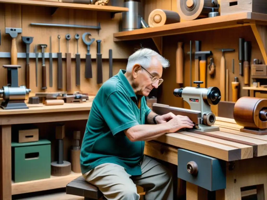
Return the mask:
<path id="1" fill-rule="evenodd" d="M 11 125 L 0 131 L 0 200 L 11 200 Z"/>

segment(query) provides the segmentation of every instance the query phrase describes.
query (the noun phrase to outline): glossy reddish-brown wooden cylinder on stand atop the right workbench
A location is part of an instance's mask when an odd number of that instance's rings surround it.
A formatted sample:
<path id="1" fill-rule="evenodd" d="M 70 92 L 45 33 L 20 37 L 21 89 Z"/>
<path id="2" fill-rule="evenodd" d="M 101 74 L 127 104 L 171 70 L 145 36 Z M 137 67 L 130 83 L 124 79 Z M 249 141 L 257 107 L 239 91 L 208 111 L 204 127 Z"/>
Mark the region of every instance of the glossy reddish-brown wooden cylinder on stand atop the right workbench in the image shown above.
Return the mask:
<path id="1" fill-rule="evenodd" d="M 256 97 L 241 97 L 234 106 L 234 120 L 244 126 L 240 131 L 266 135 L 267 134 L 267 99 Z"/>

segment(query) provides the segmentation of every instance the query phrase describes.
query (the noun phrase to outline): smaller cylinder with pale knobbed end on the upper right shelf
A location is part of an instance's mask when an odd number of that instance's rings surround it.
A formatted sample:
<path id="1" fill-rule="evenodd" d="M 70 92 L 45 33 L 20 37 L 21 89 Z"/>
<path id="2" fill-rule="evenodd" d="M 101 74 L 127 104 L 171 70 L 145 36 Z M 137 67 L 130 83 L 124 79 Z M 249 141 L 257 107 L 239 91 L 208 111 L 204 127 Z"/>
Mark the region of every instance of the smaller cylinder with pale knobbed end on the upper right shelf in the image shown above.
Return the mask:
<path id="1" fill-rule="evenodd" d="M 148 25 L 150 27 L 163 26 L 180 22 L 178 13 L 171 10 L 155 9 L 148 16 Z"/>

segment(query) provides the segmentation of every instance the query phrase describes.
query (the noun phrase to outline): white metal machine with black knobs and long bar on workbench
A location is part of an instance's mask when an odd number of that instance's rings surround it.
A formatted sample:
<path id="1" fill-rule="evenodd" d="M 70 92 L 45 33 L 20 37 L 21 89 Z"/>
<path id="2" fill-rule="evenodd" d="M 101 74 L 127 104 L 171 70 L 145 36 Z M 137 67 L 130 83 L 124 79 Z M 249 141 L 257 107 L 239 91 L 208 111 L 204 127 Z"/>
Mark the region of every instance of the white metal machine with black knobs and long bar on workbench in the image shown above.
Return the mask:
<path id="1" fill-rule="evenodd" d="M 190 105 L 190 109 L 154 103 L 152 110 L 160 115 L 172 112 L 175 115 L 188 116 L 198 131 L 219 131 L 218 126 L 213 126 L 216 118 L 210 105 L 217 105 L 220 102 L 220 90 L 217 87 L 200 87 L 203 81 L 194 81 L 194 83 L 197 84 L 197 87 L 184 87 L 173 91 L 176 97 L 182 97 Z"/>

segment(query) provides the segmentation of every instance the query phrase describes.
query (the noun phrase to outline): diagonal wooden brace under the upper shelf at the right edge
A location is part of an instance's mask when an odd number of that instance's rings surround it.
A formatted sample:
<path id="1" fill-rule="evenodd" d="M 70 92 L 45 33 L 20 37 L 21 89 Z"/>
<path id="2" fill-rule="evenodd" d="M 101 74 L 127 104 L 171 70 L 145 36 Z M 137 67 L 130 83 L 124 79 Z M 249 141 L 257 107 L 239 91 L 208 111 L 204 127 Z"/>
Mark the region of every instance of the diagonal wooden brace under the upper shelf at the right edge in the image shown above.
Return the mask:
<path id="1" fill-rule="evenodd" d="M 267 64 L 267 26 L 252 24 L 250 25 L 256 41 L 260 47 L 262 57 L 264 59 L 265 65 Z"/>

